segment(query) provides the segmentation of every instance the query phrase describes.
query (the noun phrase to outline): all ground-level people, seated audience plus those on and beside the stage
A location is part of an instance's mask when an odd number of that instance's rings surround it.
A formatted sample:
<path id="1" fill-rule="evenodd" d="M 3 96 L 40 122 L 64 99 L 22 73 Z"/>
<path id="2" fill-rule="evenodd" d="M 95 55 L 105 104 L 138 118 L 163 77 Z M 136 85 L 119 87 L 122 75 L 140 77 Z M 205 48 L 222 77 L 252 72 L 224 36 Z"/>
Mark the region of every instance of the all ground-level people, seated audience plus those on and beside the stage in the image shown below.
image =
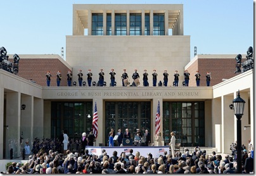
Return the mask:
<path id="1" fill-rule="evenodd" d="M 110 135 L 115 134 L 112 129 Z M 131 137 L 128 129 L 122 134 L 118 129 L 116 135 L 124 135 L 125 138 Z M 158 157 L 148 153 L 142 156 L 139 151 L 134 154 L 134 149 L 130 149 L 129 153 L 117 153 L 113 151 L 112 155 L 106 153 L 102 149 L 101 154 L 89 153 L 86 146 L 93 146 L 93 132 L 86 135 L 84 132 L 81 139 L 68 139 L 67 130 L 64 130 L 60 135 L 58 145 L 53 148 L 53 139 L 35 139 L 32 153 L 29 154 L 29 160 L 25 163 L 13 162 L 7 172 L 3 173 L 237 173 L 237 157 L 226 154 L 222 158 L 221 154 L 216 154 L 213 151 L 207 154 L 205 150 L 195 147 L 194 151 L 189 153 L 189 149 L 174 152 L 172 146 L 175 144 L 174 133 L 169 145 L 171 146 L 170 154 L 167 151 Z M 134 146 L 138 146 L 138 140 L 142 138 L 147 140 L 146 136 L 150 136 L 148 130 L 145 130 L 144 135 L 138 129 L 134 137 Z M 150 139 L 150 137 L 149 137 Z M 155 135 L 155 141 L 162 141 L 161 134 L 158 132 Z M 63 145 L 61 145 L 61 142 Z M 150 141 L 148 141 L 150 142 Z M 69 149 L 69 144 L 82 144 L 82 149 L 72 151 Z M 121 146 L 122 143 L 118 143 Z M 58 147 L 57 147 L 58 146 Z M 113 146 L 110 141 L 109 146 Z M 159 144 L 161 146 L 161 144 Z M 63 150 L 62 150 L 63 148 Z M 138 149 L 138 148 L 137 148 Z M 62 152 L 63 151 L 63 152 Z M 243 149 L 241 158 L 243 173 L 253 173 L 253 148 L 249 140 L 248 153 Z"/>

